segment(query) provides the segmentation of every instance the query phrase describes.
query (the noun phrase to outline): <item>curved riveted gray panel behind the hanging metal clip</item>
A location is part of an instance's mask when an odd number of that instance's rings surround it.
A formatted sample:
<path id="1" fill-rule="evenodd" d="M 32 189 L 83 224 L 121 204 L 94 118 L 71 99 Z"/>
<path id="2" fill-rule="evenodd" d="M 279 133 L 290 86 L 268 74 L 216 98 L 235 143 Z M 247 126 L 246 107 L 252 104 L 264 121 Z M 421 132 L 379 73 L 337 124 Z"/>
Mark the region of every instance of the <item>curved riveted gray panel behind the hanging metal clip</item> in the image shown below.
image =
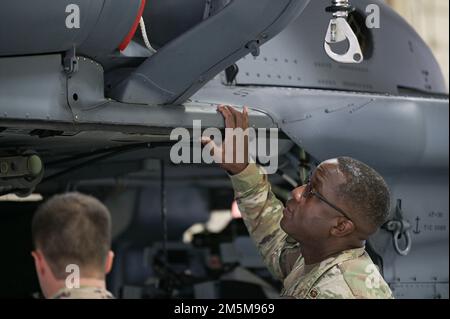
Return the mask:
<path id="1" fill-rule="evenodd" d="M 390 94 L 401 93 L 400 88 L 448 93 L 430 48 L 384 1 L 352 3 L 364 15 L 369 4 L 380 7 L 381 27 L 367 31 L 365 45 L 371 50 L 364 62 L 348 65 L 331 60 L 323 48 L 330 19 L 324 8 L 329 4 L 329 0 L 311 1 L 289 27 L 261 47 L 259 57 L 249 55 L 240 60 L 237 84 Z"/>

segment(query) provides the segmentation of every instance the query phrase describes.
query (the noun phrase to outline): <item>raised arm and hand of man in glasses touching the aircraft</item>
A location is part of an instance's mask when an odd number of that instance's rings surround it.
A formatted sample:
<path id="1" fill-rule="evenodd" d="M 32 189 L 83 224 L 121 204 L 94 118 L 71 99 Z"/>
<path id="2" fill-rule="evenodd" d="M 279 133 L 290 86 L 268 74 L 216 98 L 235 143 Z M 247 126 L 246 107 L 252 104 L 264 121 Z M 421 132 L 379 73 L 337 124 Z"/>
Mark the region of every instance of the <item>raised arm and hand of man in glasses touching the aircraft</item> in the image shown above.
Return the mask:
<path id="1" fill-rule="evenodd" d="M 220 106 L 218 110 L 225 118 L 226 128 L 242 128 L 244 131 L 248 129 L 247 108 L 244 108 L 242 113 L 229 106 Z M 249 164 L 248 137 L 241 143 L 244 149 L 238 150 L 236 146 L 240 143 L 234 143 L 229 133 L 226 130 L 221 146 L 214 144 L 214 157 L 221 157 L 219 165 L 230 175 L 239 210 L 265 264 L 275 277 L 283 279 L 292 264 L 292 258 L 289 256 L 299 255 L 298 244 L 288 242 L 288 236 L 280 228 L 284 207 L 272 193 L 267 175 L 256 164 Z M 202 142 L 214 143 L 207 137 L 204 137 Z M 233 152 L 233 155 L 229 154 L 227 157 L 227 151 Z M 226 163 L 226 158 L 239 158 L 236 156 L 238 152 L 244 152 L 243 163 Z"/>

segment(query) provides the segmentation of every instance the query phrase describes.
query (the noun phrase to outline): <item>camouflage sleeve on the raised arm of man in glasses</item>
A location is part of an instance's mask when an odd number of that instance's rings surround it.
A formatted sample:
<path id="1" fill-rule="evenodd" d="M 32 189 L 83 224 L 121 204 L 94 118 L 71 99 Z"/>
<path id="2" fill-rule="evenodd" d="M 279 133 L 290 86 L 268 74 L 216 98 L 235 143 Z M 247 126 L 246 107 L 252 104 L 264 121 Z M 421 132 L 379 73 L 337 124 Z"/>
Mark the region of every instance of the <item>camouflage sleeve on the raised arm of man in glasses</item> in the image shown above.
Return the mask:
<path id="1" fill-rule="evenodd" d="M 286 265 L 287 256 L 300 253 L 298 244 L 288 241 L 280 228 L 283 204 L 272 193 L 267 175 L 256 164 L 249 164 L 230 178 L 244 223 L 264 263 L 272 275 L 284 279 L 292 268 Z"/>

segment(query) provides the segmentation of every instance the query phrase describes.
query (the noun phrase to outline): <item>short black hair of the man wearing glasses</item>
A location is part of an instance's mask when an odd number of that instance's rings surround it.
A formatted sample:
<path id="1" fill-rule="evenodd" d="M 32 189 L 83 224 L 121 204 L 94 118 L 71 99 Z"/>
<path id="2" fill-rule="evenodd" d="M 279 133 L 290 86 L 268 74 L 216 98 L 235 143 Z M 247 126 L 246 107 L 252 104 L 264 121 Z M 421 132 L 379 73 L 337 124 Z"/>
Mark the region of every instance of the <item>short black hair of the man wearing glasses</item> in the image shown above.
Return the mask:
<path id="1" fill-rule="evenodd" d="M 368 165 L 350 158 L 339 157 L 339 170 L 346 183 L 338 188 L 338 195 L 350 204 L 355 214 L 367 221 L 369 233 L 386 222 L 391 205 L 389 187 L 383 177 Z"/>

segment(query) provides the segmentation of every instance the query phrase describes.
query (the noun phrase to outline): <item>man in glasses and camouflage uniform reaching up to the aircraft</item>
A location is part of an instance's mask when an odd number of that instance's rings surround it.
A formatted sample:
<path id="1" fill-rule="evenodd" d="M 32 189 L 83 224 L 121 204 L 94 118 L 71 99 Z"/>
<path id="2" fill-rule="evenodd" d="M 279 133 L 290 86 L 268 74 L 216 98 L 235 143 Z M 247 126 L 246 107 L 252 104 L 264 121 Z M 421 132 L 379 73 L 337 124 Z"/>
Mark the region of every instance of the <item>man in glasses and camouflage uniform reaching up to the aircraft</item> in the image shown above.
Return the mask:
<path id="1" fill-rule="evenodd" d="M 248 128 L 248 111 L 220 106 L 226 127 Z M 203 138 L 203 144 L 213 143 Z M 214 144 L 225 158 L 230 147 Z M 232 144 L 231 144 L 232 145 Z M 233 152 L 236 153 L 233 146 Z M 247 153 L 247 150 L 245 150 Z M 390 198 L 383 178 L 351 158 L 322 163 L 307 185 L 292 191 L 286 207 L 255 164 L 219 164 L 230 174 L 244 222 L 286 298 L 393 298 L 365 251 L 367 238 L 387 218 Z"/>

